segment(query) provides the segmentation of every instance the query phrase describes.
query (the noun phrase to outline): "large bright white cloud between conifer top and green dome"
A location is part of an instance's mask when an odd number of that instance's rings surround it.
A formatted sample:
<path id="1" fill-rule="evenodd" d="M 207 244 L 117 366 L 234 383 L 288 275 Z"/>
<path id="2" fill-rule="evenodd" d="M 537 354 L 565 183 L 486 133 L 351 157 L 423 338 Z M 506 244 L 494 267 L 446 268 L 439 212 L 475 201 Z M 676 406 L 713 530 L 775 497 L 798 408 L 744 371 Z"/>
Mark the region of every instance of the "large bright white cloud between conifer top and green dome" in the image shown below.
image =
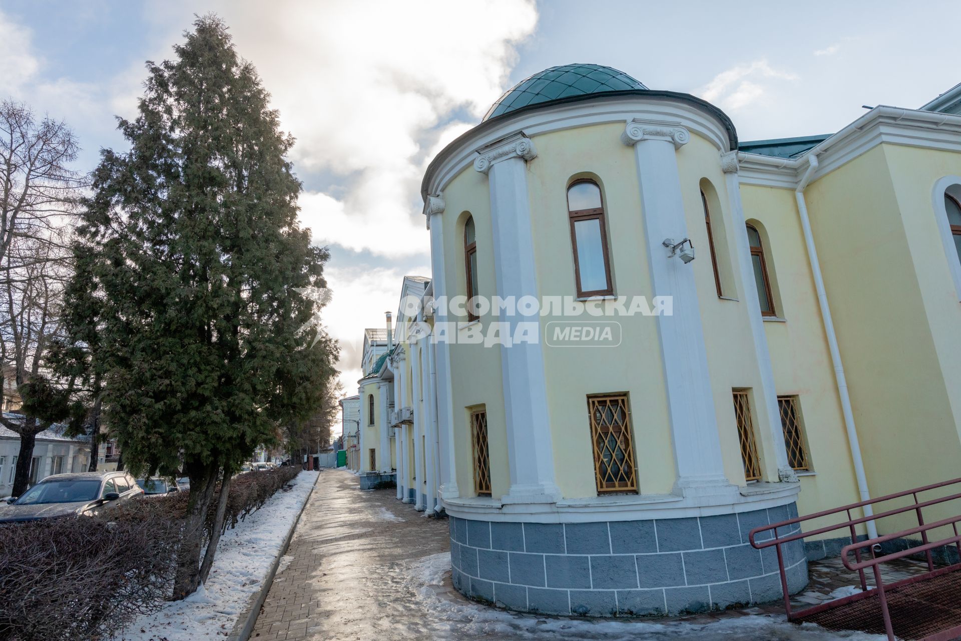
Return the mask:
<path id="1" fill-rule="evenodd" d="M 297 138 L 298 171 L 338 183 L 339 191 L 302 201 L 315 240 L 392 258 L 427 251 L 419 186 L 438 126 L 456 110 L 480 118 L 537 22 L 529 0 L 209 8 L 230 26 Z M 444 132 L 452 129 L 464 126 Z"/>

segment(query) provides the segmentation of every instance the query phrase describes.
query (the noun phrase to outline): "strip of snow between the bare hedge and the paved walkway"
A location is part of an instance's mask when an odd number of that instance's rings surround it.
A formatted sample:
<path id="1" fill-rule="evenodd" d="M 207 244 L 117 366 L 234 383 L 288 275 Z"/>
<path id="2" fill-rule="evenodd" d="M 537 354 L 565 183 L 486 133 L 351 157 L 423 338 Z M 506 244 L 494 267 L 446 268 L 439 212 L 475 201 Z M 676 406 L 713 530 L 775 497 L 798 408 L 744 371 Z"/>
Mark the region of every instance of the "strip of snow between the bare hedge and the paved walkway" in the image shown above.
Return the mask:
<path id="1" fill-rule="evenodd" d="M 207 584 L 184 601 L 140 617 L 120 634 L 121 641 L 193 641 L 230 634 L 280 554 L 317 476 L 301 472 L 291 481 L 290 491 L 278 491 L 234 530 L 227 530 L 217 545 Z"/>

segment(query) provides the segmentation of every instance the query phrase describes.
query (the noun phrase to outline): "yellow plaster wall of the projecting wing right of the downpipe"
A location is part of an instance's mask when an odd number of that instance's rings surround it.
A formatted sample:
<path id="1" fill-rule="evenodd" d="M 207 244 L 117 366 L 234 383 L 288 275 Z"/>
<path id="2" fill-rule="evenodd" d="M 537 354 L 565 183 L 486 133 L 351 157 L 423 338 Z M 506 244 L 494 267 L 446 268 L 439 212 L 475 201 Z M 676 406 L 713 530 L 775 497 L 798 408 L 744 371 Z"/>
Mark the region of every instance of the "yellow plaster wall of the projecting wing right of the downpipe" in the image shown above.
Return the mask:
<path id="1" fill-rule="evenodd" d="M 930 295 L 925 301 L 923 292 L 938 284 L 922 277 L 937 278 L 938 259 L 918 255 L 943 254 L 924 216 L 931 216 L 939 172 L 961 171 L 956 160 L 938 156 L 878 146 L 806 191 L 873 496 L 956 477 L 961 460 L 932 334 L 950 323 L 956 333 L 958 317 L 956 309 L 938 309 Z M 924 229 L 927 242 L 912 256 Z M 940 282 L 948 278 L 943 273 Z M 932 326 L 938 314 L 943 318 Z M 911 519 L 887 521 L 878 530 L 910 525 Z"/>

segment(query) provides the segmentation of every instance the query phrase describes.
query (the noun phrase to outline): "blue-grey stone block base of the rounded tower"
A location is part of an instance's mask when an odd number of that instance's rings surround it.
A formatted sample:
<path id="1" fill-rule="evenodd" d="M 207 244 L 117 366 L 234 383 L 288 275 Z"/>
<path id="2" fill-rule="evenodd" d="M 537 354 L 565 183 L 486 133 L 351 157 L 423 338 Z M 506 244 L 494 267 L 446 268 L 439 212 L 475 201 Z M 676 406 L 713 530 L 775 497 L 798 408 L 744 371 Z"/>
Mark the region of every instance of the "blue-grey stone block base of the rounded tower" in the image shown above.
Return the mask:
<path id="1" fill-rule="evenodd" d="M 452 579 L 471 599 L 545 614 L 664 615 L 766 603 L 782 596 L 776 550 L 754 550 L 748 532 L 796 515 L 791 504 L 576 524 L 452 517 Z M 802 541 L 782 554 L 794 594 L 807 584 Z"/>

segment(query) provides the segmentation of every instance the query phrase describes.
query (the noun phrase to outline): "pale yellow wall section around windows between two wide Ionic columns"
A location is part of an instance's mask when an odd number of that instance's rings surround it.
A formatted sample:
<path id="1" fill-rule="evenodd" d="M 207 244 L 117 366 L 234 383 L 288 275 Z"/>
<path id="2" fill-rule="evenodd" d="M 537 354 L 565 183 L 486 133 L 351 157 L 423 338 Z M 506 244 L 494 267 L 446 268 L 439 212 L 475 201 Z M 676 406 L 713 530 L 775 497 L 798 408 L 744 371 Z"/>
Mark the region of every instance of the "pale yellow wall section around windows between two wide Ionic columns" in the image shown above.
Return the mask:
<path id="1" fill-rule="evenodd" d="M 606 124 L 534 138 L 538 156 L 529 164 L 528 186 L 541 297 L 577 296 L 566 199 L 567 186 L 579 177 L 594 178 L 602 189 L 615 294 L 652 296 L 634 153 L 621 142 L 623 131 L 623 124 Z M 555 320 L 570 318 L 542 316 L 542 338 Z M 586 397 L 628 392 L 640 491 L 669 492 L 675 468 L 656 320 L 596 320 L 621 323 L 619 347 L 544 345 L 557 485 L 566 498 L 597 495 Z"/>

